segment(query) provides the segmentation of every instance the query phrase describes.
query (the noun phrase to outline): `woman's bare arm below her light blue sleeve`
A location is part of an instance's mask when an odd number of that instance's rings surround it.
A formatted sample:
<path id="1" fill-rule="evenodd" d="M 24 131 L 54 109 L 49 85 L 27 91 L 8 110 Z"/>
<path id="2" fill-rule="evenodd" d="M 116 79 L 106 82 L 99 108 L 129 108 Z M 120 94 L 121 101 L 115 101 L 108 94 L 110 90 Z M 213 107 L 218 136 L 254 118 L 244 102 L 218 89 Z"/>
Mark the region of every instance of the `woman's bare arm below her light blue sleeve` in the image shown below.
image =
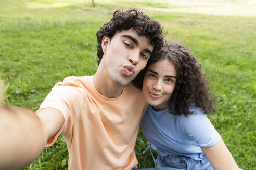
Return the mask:
<path id="1" fill-rule="evenodd" d="M 222 139 L 216 145 L 201 149 L 215 170 L 239 169 Z"/>

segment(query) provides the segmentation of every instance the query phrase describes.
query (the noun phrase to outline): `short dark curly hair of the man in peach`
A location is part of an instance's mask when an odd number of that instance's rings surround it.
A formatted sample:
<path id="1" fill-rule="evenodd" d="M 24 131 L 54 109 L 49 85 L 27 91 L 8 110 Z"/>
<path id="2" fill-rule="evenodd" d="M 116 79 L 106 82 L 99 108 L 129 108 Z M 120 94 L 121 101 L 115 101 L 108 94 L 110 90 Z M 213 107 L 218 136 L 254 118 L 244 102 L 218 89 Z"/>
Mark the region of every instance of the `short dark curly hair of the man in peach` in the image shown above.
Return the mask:
<path id="1" fill-rule="evenodd" d="M 118 31 L 129 30 L 131 28 L 133 28 L 139 36 L 146 36 L 149 39 L 150 45 L 154 46 L 153 53 L 162 48 L 164 40 L 162 27 L 159 22 L 139 12 L 135 8 L 131 8 L 125 12 L 117 10 L 114 12 L 110 22 L 106 22 L 96 33 L 98 41 L 98 64 L 104 54 L 101 48 L 101 40 L 103 37 L 108 36 L 111 40 Z"/>

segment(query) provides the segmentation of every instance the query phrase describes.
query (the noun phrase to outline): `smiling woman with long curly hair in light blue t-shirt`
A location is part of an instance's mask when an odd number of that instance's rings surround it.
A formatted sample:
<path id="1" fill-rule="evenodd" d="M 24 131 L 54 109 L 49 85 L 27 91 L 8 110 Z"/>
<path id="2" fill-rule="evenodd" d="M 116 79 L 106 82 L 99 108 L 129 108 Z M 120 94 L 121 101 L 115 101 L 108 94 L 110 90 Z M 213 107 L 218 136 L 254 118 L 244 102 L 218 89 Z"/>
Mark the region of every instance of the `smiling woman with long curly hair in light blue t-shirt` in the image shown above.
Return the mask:
<path id="1" fill-rule="evenodd" d="M 142 129 L 158 153 L 157 167 L 239 169 L 206 116 L 215 111 L 209 87 L 186 47 L 165 44 L 145 69 L 142 89 L 149 103 Z"/>

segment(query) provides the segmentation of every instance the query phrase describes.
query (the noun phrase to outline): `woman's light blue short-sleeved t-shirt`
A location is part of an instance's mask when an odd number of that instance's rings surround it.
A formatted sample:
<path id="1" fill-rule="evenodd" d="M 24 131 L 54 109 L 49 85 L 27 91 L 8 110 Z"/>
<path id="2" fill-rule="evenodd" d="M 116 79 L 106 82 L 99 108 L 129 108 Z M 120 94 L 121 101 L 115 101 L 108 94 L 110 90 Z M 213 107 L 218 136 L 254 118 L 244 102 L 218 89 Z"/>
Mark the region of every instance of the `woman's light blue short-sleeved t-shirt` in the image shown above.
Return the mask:
<path id="1" fill-rule="evenodd" d="M 161 111 L 148 106 L 142 120 L 144 136 L 152 148 L 162 157 L 183 155 L 195 160 L 202 160 L 201 147 L 213 146 L 221 140 L 220 134 L 198 107 L 190 107 L 193 114 L 173 115 L 166 108 Z"/>

